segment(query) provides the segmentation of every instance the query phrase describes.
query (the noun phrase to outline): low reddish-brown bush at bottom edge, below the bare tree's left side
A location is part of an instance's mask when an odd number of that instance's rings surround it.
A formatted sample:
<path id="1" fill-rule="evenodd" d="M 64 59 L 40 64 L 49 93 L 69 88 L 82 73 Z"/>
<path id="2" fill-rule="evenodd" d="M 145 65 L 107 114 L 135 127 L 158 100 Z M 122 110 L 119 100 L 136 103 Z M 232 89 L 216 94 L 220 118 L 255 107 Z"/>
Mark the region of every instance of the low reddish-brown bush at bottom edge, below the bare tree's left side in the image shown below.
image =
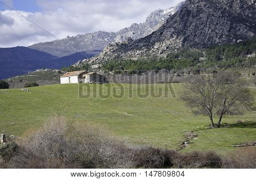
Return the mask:
<path id="1" fill-rule="evenodd" d="M 193 151 L 175 159 L 177 168 L 221 168 L 221 157 L 214 152 Z"/>

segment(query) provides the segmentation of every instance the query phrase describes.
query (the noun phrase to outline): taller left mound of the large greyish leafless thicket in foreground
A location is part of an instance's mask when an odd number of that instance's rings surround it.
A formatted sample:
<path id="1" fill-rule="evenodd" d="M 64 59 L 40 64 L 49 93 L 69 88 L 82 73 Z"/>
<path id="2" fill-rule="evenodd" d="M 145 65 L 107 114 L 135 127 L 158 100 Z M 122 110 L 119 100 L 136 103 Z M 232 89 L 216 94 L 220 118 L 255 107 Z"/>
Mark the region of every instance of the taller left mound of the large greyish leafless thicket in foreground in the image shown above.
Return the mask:
<path id="1" fill-rule="evenodd" d="M 13 168 L 65 168 L 70 145 L 64 118 L 51 118 L 40 130 L 19 142 L 18 152 L 11 162 Z M 69 167 L 71 168 L 71 167 Z"/>

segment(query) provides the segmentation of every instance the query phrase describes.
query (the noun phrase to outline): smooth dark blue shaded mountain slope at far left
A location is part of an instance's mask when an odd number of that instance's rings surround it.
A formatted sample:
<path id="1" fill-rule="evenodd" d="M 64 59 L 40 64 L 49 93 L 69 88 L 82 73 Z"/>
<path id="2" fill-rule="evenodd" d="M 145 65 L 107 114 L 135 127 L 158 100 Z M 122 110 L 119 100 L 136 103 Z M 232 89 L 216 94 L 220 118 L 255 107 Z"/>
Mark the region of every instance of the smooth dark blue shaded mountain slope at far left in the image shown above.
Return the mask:
<path id="1" fill-rule="evenodd" d="M 93 57 L 85 52 L 57 58 L 51 54 L 26 47 L 0 48 L 0 79 L 9 78 L 38 68 L 61 68 L 79 59 Z"/>

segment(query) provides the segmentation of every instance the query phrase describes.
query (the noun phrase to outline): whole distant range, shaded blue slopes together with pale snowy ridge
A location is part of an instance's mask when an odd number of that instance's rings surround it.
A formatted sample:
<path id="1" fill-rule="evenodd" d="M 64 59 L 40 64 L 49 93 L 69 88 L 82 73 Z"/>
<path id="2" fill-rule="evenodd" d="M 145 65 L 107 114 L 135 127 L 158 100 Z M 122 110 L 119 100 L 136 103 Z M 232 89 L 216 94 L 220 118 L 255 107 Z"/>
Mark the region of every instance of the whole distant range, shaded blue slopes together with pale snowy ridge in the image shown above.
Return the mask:
<path id="1" fill-rule="evenodd" d="M 52 42 L 41 42 L 25 47 L 0 49 L 0 79 L 34 71 L 38 68 L 61 68 L 70 66 L 80 59 L 98 55 L 112 42 L 123 42 L 127 38 L 135 40 L 147 36 L 158 29 L 166 19 L 179 11 L 184 2 L 167 10 L 156 10 L 145 23 L 133 24 L 118 32 L 98 31 L 67 37 Z"/>

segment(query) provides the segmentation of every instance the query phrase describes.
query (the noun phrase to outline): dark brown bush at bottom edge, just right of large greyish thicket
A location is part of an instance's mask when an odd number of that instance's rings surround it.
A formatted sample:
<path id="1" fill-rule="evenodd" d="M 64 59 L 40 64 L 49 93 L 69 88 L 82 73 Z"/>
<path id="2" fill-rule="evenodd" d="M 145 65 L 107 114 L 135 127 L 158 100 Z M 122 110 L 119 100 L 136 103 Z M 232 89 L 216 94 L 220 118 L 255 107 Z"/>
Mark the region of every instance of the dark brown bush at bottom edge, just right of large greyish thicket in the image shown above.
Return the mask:
<path id="1" fill-rule="evenodd" d="M 137 168 L 171 168 L 177 156 L 176 151 L 154 147 L 142 147 L 134 152 Z"/>

